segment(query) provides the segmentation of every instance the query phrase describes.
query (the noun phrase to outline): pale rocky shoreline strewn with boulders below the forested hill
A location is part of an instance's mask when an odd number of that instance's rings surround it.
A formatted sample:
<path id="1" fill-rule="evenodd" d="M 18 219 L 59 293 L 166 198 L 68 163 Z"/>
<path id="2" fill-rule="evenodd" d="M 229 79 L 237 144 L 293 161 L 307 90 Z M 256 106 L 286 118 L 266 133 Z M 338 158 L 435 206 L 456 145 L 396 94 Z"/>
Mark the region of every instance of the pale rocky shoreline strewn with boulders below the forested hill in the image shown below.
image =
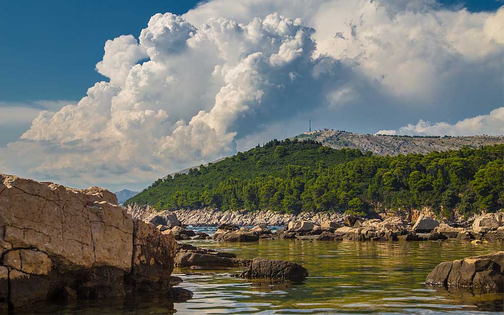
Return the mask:
<path id="1" fill-rule="evenodd" d="M 127 211 L 131 212 L 131 208 Z M 446 224 L 429 214 L 420 214 L 415 221 L 408 221 L 400 216 L 385 219 L 368 219 L 348 214 L 301 213 L 298 216 L 282 215 L 268 211 L 254 213 L 215 212 L 204 216 L 203 210 L 179 210 L 141 212 L 135 214 L 153 223 L 161 231 L 170 230 L 175 239 L 214 239 L 224 242 L 254 242 L 261 238 L 296 238 L 317 236 L 318 240 L 445 240 L 458 238 L 478 242 L 492 242 L 504 239 L 502 211 L 486 213 L 466 221 Z M 182 219 L 178 215 L 184 215 Z M 188 215 L 188 213 L 190 213 Z M 150 215 L 150 216 L 149 216 Z M 310 219 L 304 219 L 312 216 Z M 259 221 L 255 221 L 258 217 Z M 213 237 L 185 229 L 185 226 L 202 224 L 210 219 L 207 226 L 219 225 Z M 269 219 L 268 219 L 269 218 Z M 303 218 L 298 220 L 298 218 Z M 195 222 L 199 222 L 196 224 Z M 266 221 L 264 223 L 264 221 Z M 285 223 L 285 224 L 282 224 Z M 203 225 L 203 224 L 202 224 Z M 272 232 L 267 227 L 283 225 L 282 229 Z M 255 226 L 248 228 L 248 226 Z"/>

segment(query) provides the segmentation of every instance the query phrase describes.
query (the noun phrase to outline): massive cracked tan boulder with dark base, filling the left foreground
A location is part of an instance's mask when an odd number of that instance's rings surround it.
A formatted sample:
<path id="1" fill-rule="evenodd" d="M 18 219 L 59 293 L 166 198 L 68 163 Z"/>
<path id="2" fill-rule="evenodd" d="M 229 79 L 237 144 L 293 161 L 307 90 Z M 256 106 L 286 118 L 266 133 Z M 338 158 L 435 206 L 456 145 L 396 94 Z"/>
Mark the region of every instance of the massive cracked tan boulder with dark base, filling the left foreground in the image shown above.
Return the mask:
<path id="1" fill-rule="evenodd" d="M 168 289 L 175 250 L 107 190 L 0 174 L 0 312 Z"/>

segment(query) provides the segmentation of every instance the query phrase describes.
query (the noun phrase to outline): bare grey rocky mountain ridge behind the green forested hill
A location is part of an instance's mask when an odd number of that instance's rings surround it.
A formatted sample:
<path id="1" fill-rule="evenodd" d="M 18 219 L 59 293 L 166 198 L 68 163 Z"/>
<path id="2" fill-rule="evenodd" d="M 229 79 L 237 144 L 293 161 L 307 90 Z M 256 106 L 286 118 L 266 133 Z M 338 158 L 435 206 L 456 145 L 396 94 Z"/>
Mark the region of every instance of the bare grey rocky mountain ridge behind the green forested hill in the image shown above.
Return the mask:
<path id="1" fill-rule="evenodd" d="M 291 139 L 315 140 L 333 149 L 358 149 L 372 152 L 381 156 L 396 156 L 399 154 L 420 153 L 428 154 L 433 151 L 441 152 L 459 150 L 464 146 L 473 149 L 482 145 L 494 145 L 504 143 L 504 136 L 466 136 L 466 137 L 411 137 L 411 136 L 387 136 L 387 135 L 364 135 L 325 129 L 323 131 L 306 132 Z"/>

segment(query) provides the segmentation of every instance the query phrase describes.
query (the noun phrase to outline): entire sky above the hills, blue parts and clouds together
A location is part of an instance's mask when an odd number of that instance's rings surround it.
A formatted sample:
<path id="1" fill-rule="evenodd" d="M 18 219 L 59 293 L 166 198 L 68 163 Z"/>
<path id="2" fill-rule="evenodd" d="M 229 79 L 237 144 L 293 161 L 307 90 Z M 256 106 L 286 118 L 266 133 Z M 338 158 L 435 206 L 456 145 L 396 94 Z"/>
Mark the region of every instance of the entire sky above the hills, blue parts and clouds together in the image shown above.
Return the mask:
<path id="1" fill-rule="evenodd" d="M 141 189 L 302 133 L 308 117 L 359 133 L 501 135 L 503 5 L 7 2 L 0 172 Z"/>

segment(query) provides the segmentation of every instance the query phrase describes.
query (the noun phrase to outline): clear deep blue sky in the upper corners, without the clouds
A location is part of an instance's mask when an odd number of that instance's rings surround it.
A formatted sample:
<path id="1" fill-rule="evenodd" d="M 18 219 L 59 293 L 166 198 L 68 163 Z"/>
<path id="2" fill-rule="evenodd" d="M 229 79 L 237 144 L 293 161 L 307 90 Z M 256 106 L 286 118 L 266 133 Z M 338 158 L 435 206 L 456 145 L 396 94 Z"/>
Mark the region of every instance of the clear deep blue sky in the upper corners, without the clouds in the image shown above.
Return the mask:
<path id="1" fill-rule="evenodd" d="M 103 43 L 138 36 L 155 13 L 183 14 L 199 1 L 6 1 L 0 10 L 0 101 L 78 100 L 95 82 Z M 496 10 L 502 1 L 442 0 L 447 7 Z"/>

